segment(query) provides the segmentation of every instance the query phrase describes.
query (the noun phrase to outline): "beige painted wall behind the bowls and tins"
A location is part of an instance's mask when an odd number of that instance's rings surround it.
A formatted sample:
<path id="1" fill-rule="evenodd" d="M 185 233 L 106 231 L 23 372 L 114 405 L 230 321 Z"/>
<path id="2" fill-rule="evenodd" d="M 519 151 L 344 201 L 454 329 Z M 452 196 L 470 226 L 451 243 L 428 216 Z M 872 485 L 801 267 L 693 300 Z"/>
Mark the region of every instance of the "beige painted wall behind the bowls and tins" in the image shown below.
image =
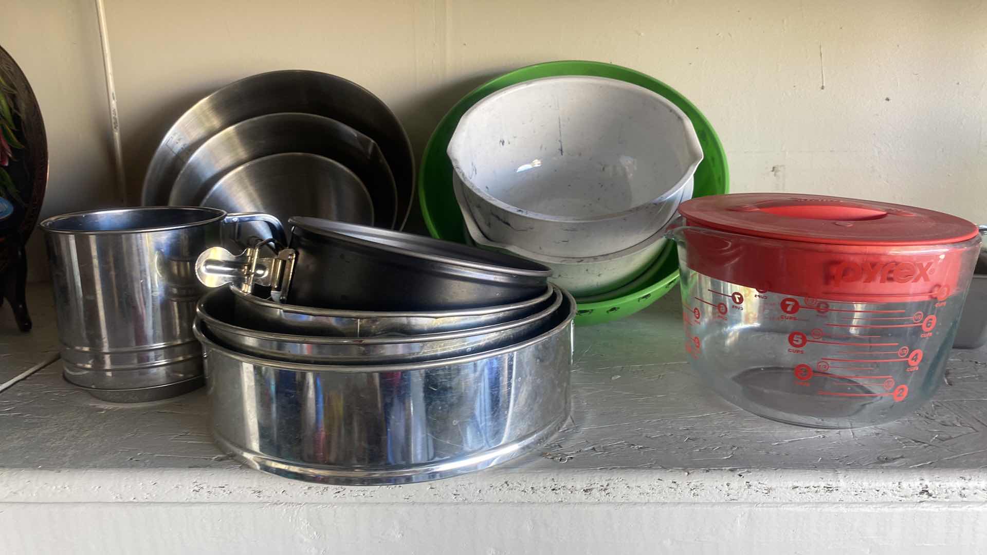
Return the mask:
<path id="1" fill-rule="evenodd" d="M 880 198 L 987 223 L 987 5 L 977 2 L 106 6 L 131 202 L 170 122 L 239 77 L 293 67 L 352 79 L 395 109 L 420 155 L 442 114 L 487 78 L 584 58 L 640 69 L 693 100 L 721 134 L 734 192 Z M 92 3 L 16 0 L 14 12 L 46 30 L 38 41 L 0 23 L 54 135 L 46 211 L 113 198 Z"/>

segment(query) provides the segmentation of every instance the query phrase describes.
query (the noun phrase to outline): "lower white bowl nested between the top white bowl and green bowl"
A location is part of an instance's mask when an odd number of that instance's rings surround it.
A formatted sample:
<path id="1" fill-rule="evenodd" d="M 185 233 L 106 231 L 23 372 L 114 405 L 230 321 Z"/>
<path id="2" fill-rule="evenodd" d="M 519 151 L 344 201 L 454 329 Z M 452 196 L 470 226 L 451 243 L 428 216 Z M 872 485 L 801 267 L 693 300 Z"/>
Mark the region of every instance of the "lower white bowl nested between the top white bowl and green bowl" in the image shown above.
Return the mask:
<path id="1" fill-rule="evenodd" d="M 664 230 L 659 229 L 641 243 L 608 255 L 571 258 L 532 253 L 516 245 L 498 243 L 485 237 L 466 206 L 463 183 L 453 176 L 452 184 L 467 235 L 473 243 L 544 264 L 552 269 L 549 280 L 576 298 L 612 291 L 641 276 L 661 254 L 666 243 Z"/>

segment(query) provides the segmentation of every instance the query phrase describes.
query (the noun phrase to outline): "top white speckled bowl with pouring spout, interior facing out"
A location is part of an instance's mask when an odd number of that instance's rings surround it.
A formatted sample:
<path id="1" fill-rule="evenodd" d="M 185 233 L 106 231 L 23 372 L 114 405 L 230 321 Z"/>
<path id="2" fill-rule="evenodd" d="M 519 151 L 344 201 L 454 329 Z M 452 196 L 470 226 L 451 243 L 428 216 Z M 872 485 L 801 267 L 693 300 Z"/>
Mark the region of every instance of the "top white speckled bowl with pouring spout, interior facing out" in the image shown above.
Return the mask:
<path id="1" fill-rule="evenodd" d="M 703 160 L 692 122 L 643 87 L 549 77 L 471 108 L 447 149 L 483 235 L 534 254 L 595 257 L 671 219 Z"/>

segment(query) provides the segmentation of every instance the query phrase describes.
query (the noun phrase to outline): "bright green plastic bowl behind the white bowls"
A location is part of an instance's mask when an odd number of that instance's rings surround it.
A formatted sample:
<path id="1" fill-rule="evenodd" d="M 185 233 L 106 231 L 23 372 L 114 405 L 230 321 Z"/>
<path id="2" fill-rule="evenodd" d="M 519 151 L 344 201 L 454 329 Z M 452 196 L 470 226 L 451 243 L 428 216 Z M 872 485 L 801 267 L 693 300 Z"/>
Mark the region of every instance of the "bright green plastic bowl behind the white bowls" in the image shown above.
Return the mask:
<path id="1" fill-rule="evenodd" d="M 675 89 L 640 71 L 619 65 L 598 61 L 551 61 L 522 67 L 481 85 L 456 103 L 456 106 L 453 106 L 452 110 L 438 122 L 431 138 L 428 139 L 428 144 L 425 145 L 421 168 L 418 170 L 418 202 L 421 205 L 421 215 L 432 237 L 459 243 L 466 242 L 463 215 L 452 192 L 452 163 L 445 153 L 459 119 L 467 110 L 473 108 L 473 105 L 495 91 L 532 79 L 561 75 L 619 79 L 645 87 L 671 101 L 689 119 L 692 119 L 699 143 L 703 146 L 703 162 L 696 169 L 693 197 L 722 195 L 729 190 L 729 170 L 726 167 L 726 153 L 723 151 L 720 137 L 717 136 L 710 121 Z M 669 256 L 663 262 L 658 261 L 656 264 L 660 265 L 659 270 L 652 273 L 653 278 L 643 283 L 638 290 L 608 300 L 579 302 L 575 316 L 576 325 L 601 324 L 630 316 L 668 292 L 678 279 L 678 257 Z"/>

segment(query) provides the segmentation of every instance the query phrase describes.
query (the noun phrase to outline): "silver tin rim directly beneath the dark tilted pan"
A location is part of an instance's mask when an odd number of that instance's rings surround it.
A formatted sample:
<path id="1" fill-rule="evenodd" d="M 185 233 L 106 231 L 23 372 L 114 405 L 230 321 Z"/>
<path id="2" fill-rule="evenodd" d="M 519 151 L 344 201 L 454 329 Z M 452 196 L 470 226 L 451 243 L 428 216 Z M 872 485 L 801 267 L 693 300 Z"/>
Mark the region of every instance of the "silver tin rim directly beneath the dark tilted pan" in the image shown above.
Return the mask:
<path id="1" fill-rule="evenodd" d="M 310 336 L 367 338 L 455 332 L 502 324 L 534 314 L 551 303 L 552 287 L 521 302 L 442 312 L 368 312 L 282 304 L 236 287 L 236 321 L 253 330 Z"/>

